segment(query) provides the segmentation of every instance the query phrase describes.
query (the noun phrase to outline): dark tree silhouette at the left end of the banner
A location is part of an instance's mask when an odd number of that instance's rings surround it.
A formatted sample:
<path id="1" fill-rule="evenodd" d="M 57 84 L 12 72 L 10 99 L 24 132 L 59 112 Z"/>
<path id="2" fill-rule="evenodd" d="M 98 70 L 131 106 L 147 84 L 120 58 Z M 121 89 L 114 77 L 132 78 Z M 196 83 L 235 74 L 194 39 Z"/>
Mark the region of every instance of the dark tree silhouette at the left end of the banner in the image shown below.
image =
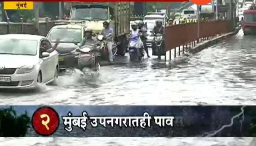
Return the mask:
<path id="1" fill-rule="evenodd" d="M 16 116 L 13 107 L 0 109 L 0 137 L 24 137 L 29 124 L 30 118 L 27 112 Z"/>

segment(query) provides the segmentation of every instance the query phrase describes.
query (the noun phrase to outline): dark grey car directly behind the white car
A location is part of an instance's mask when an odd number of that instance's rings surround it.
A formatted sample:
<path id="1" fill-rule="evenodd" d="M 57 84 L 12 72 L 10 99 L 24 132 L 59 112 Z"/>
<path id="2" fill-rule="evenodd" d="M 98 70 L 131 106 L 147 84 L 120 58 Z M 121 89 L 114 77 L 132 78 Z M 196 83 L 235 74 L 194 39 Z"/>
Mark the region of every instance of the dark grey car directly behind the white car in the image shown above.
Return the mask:
<path id="1" fill-rule="evenodd" d="M 59 53 L 60 69 L 78 66 L 78 58 L 75 58 L 72 51 L 78 48 L 78 44 L 82 42 L 85 28 L 83 24 L 65 24 L 54 26 L 48 32 L 47 38 L 51 43 L 54 44 L 59 39 L 56 50 Z"/>

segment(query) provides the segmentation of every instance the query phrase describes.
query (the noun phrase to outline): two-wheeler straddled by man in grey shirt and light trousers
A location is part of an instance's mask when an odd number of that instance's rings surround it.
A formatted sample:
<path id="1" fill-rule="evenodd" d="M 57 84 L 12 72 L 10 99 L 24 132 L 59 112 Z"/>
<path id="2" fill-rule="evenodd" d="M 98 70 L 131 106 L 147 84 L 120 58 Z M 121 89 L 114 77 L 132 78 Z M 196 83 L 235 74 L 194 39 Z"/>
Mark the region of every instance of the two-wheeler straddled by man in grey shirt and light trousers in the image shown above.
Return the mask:
<path id="1" fill-rule="evenodd" d="M 98 35 L 97 39 L 101 44 L 100 49 L 101 49 L 101 58 L 102 58 L 102 60 L 110 61 L 109 60 L 109 48 L 108 48 L 108 45 L 107 45 L 107 43 L 104 39 L 104 36 L 103 35 Z M 115 42 L 113 43 L 113 46 L 112 46 L 112 55 L 113 55 L 113 57 L 112 57 L 113 59 L 117 55 L 117 45 L 116 45 Z"/>

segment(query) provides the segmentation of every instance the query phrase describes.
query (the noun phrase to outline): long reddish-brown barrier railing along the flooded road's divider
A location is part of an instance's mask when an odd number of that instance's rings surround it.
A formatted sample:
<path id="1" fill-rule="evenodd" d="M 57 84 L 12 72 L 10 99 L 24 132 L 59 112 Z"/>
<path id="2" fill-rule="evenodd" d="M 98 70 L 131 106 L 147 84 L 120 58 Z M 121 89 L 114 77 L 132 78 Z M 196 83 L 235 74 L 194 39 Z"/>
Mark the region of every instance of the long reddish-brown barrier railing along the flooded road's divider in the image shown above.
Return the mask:
<path id="1" fill-rule="evenodd" d="M 165 51 L 169 51 L 171 59 L 171 50 L 174 49 L 174 58 L 176 58 L 176 49 L 180 55 L 182 48 L 182 54 L 184 54 L 184 49 L 188 50 L 196 43 L 231 32 L 232 28 L 234 27 L 229 20 L 207 20 L 201 21 L 199 24 L 192 22 L 167 26 L 165 28 Z"/>

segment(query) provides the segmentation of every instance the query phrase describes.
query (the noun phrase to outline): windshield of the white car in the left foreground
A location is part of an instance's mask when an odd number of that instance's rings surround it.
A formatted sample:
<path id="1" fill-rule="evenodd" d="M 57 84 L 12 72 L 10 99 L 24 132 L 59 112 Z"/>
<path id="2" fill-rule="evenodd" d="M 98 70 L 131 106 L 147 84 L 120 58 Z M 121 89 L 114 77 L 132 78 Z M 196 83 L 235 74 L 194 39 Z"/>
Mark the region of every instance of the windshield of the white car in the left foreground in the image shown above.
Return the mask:
<path id="1" fill-rule="evenodd" d="M 36 55 L 37 41 L 29 39 L 0 39 L 0 54 Z"/>

